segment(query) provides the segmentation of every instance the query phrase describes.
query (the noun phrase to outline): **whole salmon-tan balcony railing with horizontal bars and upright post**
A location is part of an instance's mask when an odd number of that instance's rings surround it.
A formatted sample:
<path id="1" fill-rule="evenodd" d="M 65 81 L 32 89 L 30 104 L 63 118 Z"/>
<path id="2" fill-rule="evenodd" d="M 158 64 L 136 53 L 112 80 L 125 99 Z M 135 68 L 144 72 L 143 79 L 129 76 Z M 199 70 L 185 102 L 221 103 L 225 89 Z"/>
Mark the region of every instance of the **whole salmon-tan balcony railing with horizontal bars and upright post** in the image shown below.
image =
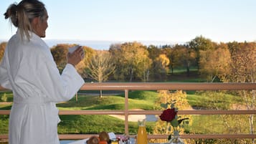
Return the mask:
<path id="1" fill-rule="evenodd" d="M 1 89 L 0 90 L 4 90 Z M 60 110 L 60 115 L 124 115 L 125 133 L 128 134 L 128 115 L 160 115 L 161 110 L 128 110 L 129 90 L 256 90 L 256 83 L 206 83 L 206 82 L 166 82 L 166 83 L 85 83 L 81 90 L 122 90 L 125 92 L 124 110 Z M 0 115 L 9 115 L 10 110 L 0 110 Z M 179 110 L 179 115 L 255 115 L 256 110 Z M 90 138 L 91 135 L 59 135 L 62 140 Z M 134 135 L 131 135 L 134 136 Z M 256 138 L 255 134 L 206 134 L 180 135 L 184 139 L 193 138 Z M 165 139 L 167 135 L 148 135 L 149 139 Z M 0 135 L 7 139 L 8 135 Z"/>

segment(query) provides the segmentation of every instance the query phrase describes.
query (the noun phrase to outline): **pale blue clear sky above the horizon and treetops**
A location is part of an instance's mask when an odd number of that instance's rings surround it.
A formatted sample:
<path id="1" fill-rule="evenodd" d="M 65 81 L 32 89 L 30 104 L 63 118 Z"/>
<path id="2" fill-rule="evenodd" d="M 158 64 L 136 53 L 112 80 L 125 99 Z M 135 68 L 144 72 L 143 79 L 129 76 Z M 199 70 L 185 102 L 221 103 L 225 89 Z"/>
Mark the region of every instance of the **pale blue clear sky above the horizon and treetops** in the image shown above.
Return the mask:
<path id="1" fill-rule="evenodd" d="M 0 1 L 0 39 L 16 32 L 4 19 L 15 0 Z M 19 1 L 16 1 L 19 2 Z M 255 0 L 42 0 L 45 39 L 256 42 Z"/>

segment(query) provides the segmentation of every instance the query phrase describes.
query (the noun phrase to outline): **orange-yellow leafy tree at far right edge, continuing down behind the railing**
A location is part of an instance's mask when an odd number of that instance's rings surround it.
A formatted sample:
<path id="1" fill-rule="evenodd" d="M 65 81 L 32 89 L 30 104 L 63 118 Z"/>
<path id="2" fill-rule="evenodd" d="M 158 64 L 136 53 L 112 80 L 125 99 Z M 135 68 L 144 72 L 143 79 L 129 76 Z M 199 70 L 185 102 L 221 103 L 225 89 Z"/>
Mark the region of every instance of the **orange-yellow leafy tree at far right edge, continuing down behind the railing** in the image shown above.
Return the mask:
<path id="1" fill-rule="evenodd" d="M 256 43 L 230 42 L 228 44 L 231 54 L 230 71 L 223 78 L 224 82 L 256 82 Z M 247 110 L 256 110 L 255 90 L 241 90 L 237 92 L 243 97 Z M 255 133 L 253 127 L 254 115 L 250 115 L 250 133 Z M 252 140 L 255 143 L 255 140 Z"/>

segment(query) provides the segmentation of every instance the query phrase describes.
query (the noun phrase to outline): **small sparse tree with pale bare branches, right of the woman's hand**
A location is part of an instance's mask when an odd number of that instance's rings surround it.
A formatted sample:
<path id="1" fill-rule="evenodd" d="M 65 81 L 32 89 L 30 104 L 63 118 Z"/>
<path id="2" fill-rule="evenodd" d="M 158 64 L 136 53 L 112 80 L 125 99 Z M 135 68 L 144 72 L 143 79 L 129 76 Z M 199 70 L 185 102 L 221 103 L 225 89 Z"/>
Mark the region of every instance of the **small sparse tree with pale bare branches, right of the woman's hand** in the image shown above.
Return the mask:
<path id="1" fill-rule="evenodd" d="M 111 61 L 110 53 L 108 51 L 100 50 L 91 57 L 87 68 L 90 71 L 90 77 L 98 82 L 108 80 L 108 76 L 115 71 L 115 66 Z M 100 97 L 102 97 L 102 95 L 102 90 L 100 90 Z"/>

